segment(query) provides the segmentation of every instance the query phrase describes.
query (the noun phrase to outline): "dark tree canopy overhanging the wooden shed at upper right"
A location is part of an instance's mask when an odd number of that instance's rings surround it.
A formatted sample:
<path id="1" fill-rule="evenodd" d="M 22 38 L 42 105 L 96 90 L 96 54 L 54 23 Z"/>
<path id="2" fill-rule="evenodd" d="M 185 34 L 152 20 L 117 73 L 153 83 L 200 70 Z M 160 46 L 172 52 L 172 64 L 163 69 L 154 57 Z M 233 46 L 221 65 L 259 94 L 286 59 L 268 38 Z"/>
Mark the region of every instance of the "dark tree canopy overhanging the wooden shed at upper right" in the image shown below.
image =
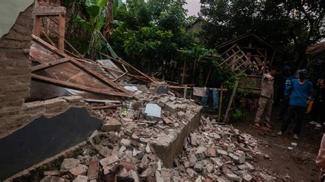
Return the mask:
<path id="1" fill-rule="evenodd" d="M 324 38 L 321 0 L 201 0 L 201 3 L 201 14 L 208 21 L 203 26 L 208 47 L 252 32 L 287 51 L 284 58 L 293 59 L 293 66 L 305 67 L 307 47 Z"/>

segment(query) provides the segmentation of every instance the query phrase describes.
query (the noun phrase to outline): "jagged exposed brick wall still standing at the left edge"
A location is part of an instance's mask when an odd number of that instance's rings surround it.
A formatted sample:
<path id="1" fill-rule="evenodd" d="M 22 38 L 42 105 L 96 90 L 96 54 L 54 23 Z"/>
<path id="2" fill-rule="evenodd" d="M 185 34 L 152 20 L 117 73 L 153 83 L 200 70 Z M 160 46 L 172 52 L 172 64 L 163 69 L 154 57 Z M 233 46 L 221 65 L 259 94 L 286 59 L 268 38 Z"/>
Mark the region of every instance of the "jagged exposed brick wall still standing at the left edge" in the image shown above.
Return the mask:
<path id="1" fill-rule="evenodd" d="M 19 114 L 29 96 L 33 8 L 30 5 L 21 12 L 8 34 L 0 39 L 0 129 L 13 125 L 9 116 Z"/>

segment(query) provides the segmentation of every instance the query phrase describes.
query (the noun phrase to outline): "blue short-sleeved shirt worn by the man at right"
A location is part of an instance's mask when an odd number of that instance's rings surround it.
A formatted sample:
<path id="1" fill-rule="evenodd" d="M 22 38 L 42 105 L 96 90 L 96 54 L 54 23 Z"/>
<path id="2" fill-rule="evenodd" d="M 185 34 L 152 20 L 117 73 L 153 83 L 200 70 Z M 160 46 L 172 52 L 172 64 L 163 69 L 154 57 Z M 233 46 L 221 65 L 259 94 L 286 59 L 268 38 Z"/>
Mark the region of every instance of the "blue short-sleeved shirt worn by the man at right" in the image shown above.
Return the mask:
<path id="1" fill-rule="evenodd" d="M 308 93 L 313 92 L 313 83 L 306 80 L 303 84 L 300 84 L 298 79 L 291 80 L 291 88 L 293 92 L 291 94 L 290 105 L 307 107 Z"/>

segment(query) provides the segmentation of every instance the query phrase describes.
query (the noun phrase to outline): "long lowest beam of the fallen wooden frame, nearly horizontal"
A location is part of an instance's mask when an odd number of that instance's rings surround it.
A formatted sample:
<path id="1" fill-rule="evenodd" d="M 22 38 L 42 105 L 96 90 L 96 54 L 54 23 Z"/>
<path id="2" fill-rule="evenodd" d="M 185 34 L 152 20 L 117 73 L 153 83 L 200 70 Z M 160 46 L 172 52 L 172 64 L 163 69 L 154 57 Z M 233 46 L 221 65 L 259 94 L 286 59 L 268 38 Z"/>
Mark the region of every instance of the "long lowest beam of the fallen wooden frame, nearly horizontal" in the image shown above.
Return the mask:
<path id="1" fill-rule="evenodd" d="M 82 90 L 85 92 L 91 92 L 94 94 L 104 94 L 104 95 L 108 95 L 108 96 L 125 96 L 125 97 L 131 97 L 128 94 L 125 94 L 123 92 L 115 92 L 115 91 L 111 91 L 111 90 L 105 90 L 105 89 L 99 89 L 99 88 L 91 88 L 88 86 L 82 86 L 76 83 L 71 83 L 68 81 L 62 81 L 59 79 L 52 79 L 49 77 L 43 77 L 40 75 L 36 75 L 35 73 L 32 73 L 32 79 L 35 81 L 40 81 L 40 82 L 44 82 L 44 83 L 50 83 L 53 84 L 55 86 L 60 86 L 60 87 L 64 87 L 64 88 L 71 88 L 71 89 L 75 89 L 75 90 Z"/>

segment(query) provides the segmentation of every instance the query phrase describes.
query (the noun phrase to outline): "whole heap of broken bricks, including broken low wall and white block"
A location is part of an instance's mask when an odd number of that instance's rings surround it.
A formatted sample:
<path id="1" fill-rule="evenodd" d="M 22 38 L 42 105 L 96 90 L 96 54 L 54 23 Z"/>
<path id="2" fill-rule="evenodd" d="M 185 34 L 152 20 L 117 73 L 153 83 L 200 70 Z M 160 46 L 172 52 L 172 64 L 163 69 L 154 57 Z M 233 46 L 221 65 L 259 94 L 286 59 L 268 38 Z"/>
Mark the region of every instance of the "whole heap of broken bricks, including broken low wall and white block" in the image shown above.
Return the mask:
<path id="1" fill-rule="evenodd" d="M 139 94 L 139 101 L 124 101 L 115 111 L 95 111 L 104 120 L 101 131 L 88 138 L 76 159 L 45 171 L 42 181 L 260 179 L 252 162 L 260 153 L 251 135 L 201 118 L 201 107 L 192 100 L 150 93 Z M 200 127 L 194 130 L 197 116 Z"/>

